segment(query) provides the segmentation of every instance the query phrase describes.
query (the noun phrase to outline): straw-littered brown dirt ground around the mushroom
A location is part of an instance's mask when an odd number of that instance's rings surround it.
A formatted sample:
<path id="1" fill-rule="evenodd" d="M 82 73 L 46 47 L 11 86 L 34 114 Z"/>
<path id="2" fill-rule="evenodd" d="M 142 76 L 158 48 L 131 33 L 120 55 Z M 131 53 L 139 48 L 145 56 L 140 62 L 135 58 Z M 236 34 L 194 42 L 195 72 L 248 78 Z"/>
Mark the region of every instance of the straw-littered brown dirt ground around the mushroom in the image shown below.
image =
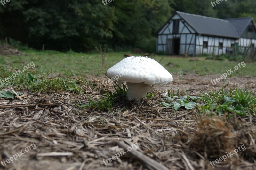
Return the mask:
<path id="1" fill-rule="evenodd" d="M 172 84 L 154 86 L 147 105 L 122 104 L 109 112 L 74 106 L 99 98 L 105 78 L 92 80 L 94 90 L 85 85 L 84 95 L 23 90 L 21 98 L 0 99 L 0 169 L 256 169 L 255 117 L 227 121 L 160 104 L 168 89 L 190 95 L 219 90 L 224 81 L 211 83 L 219 76 L 174 75 Z M 225 84 L 235 85 L 256 91 L 256 78 L 231 77 Z M 211 166 L 241 145 L 246 149 Z M 123 155 L 115 159 L 117 153 Z M 15 154 L 17 160 L 6 162 Z"/>

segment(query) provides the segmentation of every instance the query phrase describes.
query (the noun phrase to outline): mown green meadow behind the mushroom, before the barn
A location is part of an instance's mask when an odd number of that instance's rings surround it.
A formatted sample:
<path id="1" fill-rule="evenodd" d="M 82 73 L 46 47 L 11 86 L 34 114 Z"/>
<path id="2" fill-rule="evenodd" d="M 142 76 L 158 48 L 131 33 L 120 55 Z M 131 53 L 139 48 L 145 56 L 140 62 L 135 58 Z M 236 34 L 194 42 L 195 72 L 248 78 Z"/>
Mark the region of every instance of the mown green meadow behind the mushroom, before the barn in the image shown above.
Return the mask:
<path id="1" fill-rule="evenodd" d="M 0 75 L 6 78 L 11 75 L 13 69 L 21 69 L 31 62 L 36 67 L 27 70 L 37 77 L 56 78 L 60 76 L 68 77 L 84 77 L 98 76 L 101 71 L 106 72 L 108 68 L 124 59 L 124 52 L 106 53 L 105 67 L 101 66 L 100 54 L 83 54 L 75 52 L 57 52 L 57 51 L 35 51 L 25 50 L 26 56 L 0 56 Z M 140 56 L 140 54 L 133 54 Z M 158 56 L 156 60 L 160 61 L 162 56 Z M 203 58 L 204 59 L 204 58 Z M 161 64 L 172 74 L 192 72 L 199 75 L 223 74 L 226 70 L 233 69 L 240 62 L 218 61 L 218 60 L 202 60 L 189 61 L 189 58 L 168 57 L 165 56 Z M 230 76 L 256 76 L 255 63 L 246 62 L 246 67 L 241 67 Z M 17 82 L 17 81 L 16 81 Z M 20 82 L 22 83 L 22 81 Z"/>

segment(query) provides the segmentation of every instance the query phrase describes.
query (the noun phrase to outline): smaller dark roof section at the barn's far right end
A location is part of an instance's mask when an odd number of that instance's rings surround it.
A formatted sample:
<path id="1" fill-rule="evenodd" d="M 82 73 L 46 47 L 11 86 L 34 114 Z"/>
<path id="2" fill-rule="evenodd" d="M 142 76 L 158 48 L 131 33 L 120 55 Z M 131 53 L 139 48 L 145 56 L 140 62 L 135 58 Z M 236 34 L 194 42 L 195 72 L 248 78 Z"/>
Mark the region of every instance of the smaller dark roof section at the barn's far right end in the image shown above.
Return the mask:
<path id="1" fill-rule="evenodd" d="M 244 30 L 246 29 L 248 24 L 252 21 L 252 17 L 247 17 L 247 18 L 227 18 L 225 20 L 231 22 L 231 24 L 233 24 L 233 26 L 236 28 L 236 31 L 238 32 L 239 36 L 241 36 L 242 33 L 244 33 Z"/>

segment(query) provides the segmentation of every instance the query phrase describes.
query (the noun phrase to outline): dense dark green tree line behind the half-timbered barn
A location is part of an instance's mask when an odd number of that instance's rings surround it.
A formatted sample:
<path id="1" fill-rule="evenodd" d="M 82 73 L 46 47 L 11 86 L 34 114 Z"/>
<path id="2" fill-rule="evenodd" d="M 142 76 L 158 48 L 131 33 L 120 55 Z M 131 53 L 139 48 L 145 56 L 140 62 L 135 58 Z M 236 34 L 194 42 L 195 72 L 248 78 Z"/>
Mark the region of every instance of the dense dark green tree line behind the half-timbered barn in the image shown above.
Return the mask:
<path id="1" fill-rule="evenodd" d="M 141 48 L 154 52 L 157 30 L 182 11 L 216 18 L 254 17 L 255 0 L 11 0 L 0 4 L 0 35 L 36 49 L 108 51 Z M 108 2 L 108 1 L 107 1 Z"/>

